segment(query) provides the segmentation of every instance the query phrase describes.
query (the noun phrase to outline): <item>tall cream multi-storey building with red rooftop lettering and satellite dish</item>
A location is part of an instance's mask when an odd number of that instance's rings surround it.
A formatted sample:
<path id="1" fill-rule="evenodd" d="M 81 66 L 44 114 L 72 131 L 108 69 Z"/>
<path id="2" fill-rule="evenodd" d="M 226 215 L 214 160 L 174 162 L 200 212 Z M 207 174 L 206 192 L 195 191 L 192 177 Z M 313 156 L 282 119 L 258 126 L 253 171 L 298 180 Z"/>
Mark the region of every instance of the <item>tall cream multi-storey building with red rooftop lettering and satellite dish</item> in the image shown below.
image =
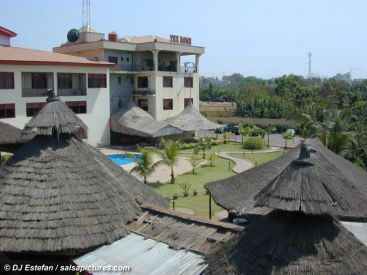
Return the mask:
<path id="1" fill-rule="evenodd" d="M 55 47 L 54 52 L 115 63 L 110 71 L 111 113 L 130 101 L 158 121 L 181 113 L 192 102 L 199 108 L 199 60 L 204 48 L 191 38 L 154 35 L 118 38 L 89 26 L 79 30 L 75 42 Z M 195 57 L 181 66 L 181 57 Z"/>

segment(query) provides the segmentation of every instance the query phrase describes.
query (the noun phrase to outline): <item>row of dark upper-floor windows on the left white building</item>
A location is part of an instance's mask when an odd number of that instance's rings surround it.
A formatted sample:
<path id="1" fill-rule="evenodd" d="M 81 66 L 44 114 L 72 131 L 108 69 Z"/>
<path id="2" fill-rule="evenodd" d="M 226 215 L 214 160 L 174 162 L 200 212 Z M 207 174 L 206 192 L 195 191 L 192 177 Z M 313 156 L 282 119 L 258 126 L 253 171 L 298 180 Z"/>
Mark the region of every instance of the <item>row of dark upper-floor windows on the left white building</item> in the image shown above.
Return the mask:
<path id="1" fill-rule="evenodd" d="M 31 73 L 32 89 L 47 89 L 48 73 Z M 73 74 L 58 73 L 57 86 L 60 89 L 71 89 L 73 87 Z M 0 72 L 0 89 L 14 89 L 14 73 Z M 106 88 L 106 74 L 88 74 L 88 88 Z"/>

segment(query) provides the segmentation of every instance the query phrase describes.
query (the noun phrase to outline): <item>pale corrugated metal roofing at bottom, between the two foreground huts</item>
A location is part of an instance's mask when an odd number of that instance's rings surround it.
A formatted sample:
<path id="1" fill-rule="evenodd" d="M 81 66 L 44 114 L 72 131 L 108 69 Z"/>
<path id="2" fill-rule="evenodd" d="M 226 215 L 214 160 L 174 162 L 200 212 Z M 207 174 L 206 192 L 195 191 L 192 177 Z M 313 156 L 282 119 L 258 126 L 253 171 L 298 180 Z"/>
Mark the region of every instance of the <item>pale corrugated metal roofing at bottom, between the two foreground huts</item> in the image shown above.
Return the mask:
<path id="1" fill-rule="evenodd" d="M 157 275 L 200 274 L 207 267 L 201 255 L 174 250 L 167 244 L 144 239 L 135 233 L 87 253 L 75 259 L 74 263 L 78 266 L 130 266 L 131 274 Z"/>

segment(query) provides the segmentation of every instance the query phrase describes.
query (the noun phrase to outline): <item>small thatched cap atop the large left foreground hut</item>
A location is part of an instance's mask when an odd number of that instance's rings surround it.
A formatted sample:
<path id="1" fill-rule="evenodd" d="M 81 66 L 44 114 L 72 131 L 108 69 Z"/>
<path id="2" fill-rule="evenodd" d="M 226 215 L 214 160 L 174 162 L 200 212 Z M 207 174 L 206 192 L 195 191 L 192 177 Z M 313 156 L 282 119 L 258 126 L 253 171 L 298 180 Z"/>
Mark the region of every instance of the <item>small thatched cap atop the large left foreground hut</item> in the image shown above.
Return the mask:
<path id="1" fill-rule="evenodd" d="M 57 134 L 76 134 L 87 137 L 88 127 L 58 98 L 48 99 L 48 103 L 24 127 L 23 134 L 51 136 Z"/>

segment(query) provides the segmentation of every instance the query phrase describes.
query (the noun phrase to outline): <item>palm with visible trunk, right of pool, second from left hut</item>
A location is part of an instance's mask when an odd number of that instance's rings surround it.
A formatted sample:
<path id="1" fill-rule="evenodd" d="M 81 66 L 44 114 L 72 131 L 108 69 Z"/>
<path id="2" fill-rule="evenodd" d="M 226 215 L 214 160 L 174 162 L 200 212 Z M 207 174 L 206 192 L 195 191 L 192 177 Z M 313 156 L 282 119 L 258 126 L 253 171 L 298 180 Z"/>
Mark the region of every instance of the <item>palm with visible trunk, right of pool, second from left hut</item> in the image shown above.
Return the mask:
<path id="1" fill-rule="evenodd" d="M 162 138 L 161 145 L 163 151 L 155 149 L 155 153 L 159 155 L 160 160 L 157 165 L 167 165 L 171 168 L 171 183 L 175 183 L 175 174 L 173 167 L 178 163 L 180 147 L 178 142 L 173 140 L 165 140 Z"/>

